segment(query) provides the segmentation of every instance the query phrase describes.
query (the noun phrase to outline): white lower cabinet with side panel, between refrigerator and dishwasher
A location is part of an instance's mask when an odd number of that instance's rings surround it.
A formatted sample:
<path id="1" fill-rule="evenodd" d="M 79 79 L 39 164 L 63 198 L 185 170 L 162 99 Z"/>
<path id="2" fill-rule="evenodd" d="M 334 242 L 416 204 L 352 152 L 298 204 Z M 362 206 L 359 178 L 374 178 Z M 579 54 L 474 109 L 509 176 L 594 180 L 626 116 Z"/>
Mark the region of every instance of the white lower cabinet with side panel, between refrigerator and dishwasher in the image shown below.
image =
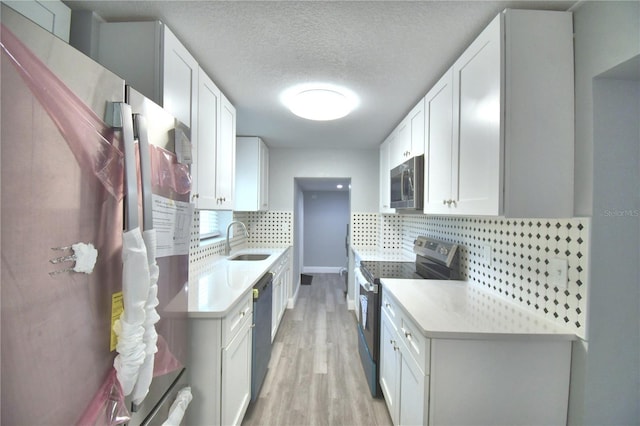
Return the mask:
<path id="1" fill-rule="evenodd" d="M 239 425 L 251 400 L 253 294 L 222 318 L 189 320 L 187 424 Z"/>

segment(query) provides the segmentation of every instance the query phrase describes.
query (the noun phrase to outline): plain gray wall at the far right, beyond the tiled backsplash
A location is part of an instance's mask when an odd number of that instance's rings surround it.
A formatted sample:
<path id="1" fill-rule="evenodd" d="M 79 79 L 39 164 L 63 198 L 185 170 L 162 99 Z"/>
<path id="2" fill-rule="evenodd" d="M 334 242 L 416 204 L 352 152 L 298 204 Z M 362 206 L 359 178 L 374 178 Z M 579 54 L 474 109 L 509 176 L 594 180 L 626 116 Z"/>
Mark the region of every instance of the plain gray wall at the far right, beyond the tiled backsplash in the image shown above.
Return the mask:
<path id="1" fill-rule="evenodd" d="M 569 423 L 640 424 L 640 82 L 602 75 L 640 54 L 640 3 L 584 2 L 574 31 L 576 213 L 592 215 L 592 235 Z"/>

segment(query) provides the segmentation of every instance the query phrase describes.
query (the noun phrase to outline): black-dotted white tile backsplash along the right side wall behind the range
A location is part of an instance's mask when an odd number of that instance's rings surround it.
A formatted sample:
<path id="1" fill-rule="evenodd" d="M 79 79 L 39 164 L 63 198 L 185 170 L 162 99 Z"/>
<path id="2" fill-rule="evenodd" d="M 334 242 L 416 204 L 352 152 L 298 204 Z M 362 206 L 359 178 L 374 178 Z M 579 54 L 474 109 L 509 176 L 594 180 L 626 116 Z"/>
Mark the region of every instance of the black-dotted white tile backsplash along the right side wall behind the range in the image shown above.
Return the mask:
<path id="1" fill-rule="evenodd" d="M 384 216 L 384 215 L 383 215 Z M 504 219 L 402 216 L 402 248 L 418 235 L 460 246 L 460 275 L 585 337 L 587 218 Z M 485 250 L 490 250 L 485 260 Z M 549 279 L 549 261 L 567 260 L 567 286 Z"/>

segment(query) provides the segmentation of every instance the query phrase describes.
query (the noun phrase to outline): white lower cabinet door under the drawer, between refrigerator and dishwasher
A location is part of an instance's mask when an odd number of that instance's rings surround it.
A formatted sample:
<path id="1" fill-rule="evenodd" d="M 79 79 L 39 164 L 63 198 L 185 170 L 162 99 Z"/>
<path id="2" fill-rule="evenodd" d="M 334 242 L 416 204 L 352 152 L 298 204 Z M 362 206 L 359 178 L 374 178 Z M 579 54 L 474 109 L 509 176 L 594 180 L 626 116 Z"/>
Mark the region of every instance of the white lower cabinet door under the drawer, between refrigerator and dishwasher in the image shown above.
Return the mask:
<path id="1" fill-rule="evenodd" d="M 221 424 L 239 425 L 251 400 L 251 321 L 222 350 Z M 212 419 L 213 420 L 213 419 Z"/>

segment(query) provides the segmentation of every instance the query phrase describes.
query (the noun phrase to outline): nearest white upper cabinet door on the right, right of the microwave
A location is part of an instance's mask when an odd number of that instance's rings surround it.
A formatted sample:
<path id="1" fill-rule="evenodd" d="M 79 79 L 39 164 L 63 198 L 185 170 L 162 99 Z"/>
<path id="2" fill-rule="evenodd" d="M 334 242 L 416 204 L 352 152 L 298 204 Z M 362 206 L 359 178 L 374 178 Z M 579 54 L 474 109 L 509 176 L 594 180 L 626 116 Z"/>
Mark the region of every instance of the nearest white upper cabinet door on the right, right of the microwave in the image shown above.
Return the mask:
<path id="1" fill-rule="evenodd" d="M 499 215 L 502 207 L 501 26 L 498 16 L 453 65 L 453 139 L 458 143 L 457 213 Z M 457 194 L 456 194 L 457 189 Z M 457 195 L 457 197 L 456 197 Z"/>

